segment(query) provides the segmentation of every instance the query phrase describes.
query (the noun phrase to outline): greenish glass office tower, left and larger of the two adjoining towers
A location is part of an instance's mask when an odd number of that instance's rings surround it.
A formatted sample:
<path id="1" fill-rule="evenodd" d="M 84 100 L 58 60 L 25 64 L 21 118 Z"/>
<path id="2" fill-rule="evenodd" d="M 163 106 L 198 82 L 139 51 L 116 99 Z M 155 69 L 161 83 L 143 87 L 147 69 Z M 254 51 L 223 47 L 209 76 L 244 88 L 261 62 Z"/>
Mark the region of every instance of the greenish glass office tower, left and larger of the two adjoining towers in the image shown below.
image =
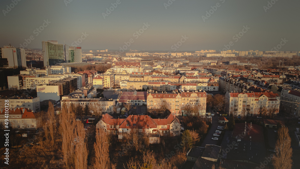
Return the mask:
<path id="1" fill-rule="evenodd" d="M 57 41 L 42 41 L 44 66 L 64 63 L 64 45 Z"/>

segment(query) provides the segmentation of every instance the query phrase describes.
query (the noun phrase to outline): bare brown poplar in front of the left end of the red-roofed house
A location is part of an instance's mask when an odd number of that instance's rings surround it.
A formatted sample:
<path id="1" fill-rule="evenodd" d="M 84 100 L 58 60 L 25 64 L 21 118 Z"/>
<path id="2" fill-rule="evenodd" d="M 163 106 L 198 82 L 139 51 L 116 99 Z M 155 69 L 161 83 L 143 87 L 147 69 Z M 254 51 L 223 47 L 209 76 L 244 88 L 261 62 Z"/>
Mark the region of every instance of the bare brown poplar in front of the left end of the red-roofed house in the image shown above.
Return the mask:
<path id="1" fill-rule="evenodd" d="M 96 142 L 94 143 L 95 164 L 94 168 L 106 169 L 110 166 L 109 141 L 103 130 L 96 129 Z"/>

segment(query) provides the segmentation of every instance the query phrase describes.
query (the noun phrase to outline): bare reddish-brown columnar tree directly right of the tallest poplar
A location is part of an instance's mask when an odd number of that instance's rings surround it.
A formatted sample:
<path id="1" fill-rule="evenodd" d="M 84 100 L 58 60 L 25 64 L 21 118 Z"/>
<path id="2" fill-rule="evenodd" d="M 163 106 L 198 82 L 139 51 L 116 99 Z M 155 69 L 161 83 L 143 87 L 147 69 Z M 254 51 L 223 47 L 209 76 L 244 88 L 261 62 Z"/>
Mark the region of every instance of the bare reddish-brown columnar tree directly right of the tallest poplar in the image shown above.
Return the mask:
<path id="1" fill-rule="evenodd" d="M 75 152 L 73 156 L 74 167 L 78 169 L 86 169 L 88 167 L 88 150 L 85 142 L 85 130 L 82 122 L 75 124 L 75 138 L 74 142 Z"/>

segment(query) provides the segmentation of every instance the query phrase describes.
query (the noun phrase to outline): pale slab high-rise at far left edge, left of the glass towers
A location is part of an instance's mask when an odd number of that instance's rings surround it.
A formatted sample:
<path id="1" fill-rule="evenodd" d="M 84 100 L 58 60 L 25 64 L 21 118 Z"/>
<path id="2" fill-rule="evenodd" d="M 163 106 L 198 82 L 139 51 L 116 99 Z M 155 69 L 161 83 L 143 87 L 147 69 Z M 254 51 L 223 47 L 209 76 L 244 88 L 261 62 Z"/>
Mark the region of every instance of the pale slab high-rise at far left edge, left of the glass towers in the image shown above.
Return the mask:
<path id="1" fill-rule="evenodd" d="M 6 58 L 9 68 L 26 67 L 26 55 L 23 48 L 4 46 L 0 48 L 0 58 Z"/>

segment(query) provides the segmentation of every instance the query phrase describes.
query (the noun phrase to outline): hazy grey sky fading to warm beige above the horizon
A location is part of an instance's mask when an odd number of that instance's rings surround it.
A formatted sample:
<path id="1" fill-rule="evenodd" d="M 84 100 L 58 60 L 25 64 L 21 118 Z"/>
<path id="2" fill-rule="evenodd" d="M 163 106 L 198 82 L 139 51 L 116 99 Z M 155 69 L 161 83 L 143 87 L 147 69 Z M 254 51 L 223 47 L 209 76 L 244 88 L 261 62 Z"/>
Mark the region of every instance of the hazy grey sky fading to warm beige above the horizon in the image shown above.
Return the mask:
<path id="1" fill-rule="evenodd" d="M 115 8 L 111 3 L 116 2 L 21 0 L 12 5 L 11 0 L 1 0 L 0 46 L 20 47 L 30 36 L 34 39 L 28 48 L 42 48 L 41 41 L 47 40 L 71 45 L 86 32 L 78 45 L 83 50 L 119 50 L 131 38 L 131 50 L 222 50 L 231 41 L 234 50 L 271 50 L 282 38 L 286 41 L 280 50 L 300 50 L 299 0 L 175 0 L 170 6 L 168 0 L 118 0 Z M 211 6 L 217 3 L 214 11 Z M 7 10 L 7 5 L 13 8 Z M 107 8 L 113 11 L 109 14 Z M 40 27 L 42 31 L 36 30 Z M 139 30 L 143 33 L 134 34 Z M 237 38 L 241 31 L 245 33 Z M 185 42 L 174 47 L 184 35 Z"/>

